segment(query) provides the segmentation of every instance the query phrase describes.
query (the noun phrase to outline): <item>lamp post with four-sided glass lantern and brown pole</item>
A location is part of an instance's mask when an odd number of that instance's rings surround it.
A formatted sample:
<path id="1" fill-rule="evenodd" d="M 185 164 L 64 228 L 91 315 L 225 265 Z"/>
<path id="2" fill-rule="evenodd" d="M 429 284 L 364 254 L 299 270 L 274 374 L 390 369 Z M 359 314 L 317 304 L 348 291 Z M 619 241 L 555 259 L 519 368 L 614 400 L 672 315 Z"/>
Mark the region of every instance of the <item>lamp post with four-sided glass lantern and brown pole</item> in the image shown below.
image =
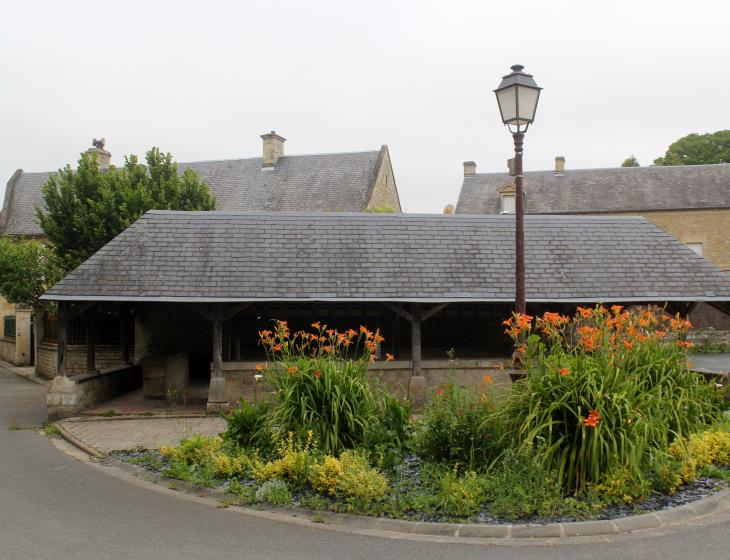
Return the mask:
<path id="1" fill-rule="evenodd" d="M 525 313 L 525 206 L 522 192 L 522 142 L 525 132 L 535 120 L 537 100 L 541 87 L 531 74 L 515 64 L 511 74 L 502 78 L 497 95 L 502 122 L 512 133 L 515 142 L 515 311 Z"/>

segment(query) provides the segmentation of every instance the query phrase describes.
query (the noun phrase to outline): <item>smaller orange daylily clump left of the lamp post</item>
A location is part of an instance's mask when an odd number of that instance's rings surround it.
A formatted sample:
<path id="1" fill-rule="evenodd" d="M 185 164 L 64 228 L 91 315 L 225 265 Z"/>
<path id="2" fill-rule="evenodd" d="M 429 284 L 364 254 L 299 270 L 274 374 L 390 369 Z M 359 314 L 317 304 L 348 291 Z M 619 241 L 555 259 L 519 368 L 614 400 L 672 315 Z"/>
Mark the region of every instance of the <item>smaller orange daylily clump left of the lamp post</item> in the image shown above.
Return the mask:
<path id="1" fill-rule="evenodd" d="M 327 453 L 357 447 L 378 424 L 403 437 L 401 411 L 383 391 L 373 390 L 366 375 L 383 338 L 365 327 L 344 333 L 319 323 L 312 328 L 292 334 L 278 321 L 274 332 L 259 333 L 273 362 L 265 369 L 277 396 L 273 422 L 283 433 L 313 432 Z"/>

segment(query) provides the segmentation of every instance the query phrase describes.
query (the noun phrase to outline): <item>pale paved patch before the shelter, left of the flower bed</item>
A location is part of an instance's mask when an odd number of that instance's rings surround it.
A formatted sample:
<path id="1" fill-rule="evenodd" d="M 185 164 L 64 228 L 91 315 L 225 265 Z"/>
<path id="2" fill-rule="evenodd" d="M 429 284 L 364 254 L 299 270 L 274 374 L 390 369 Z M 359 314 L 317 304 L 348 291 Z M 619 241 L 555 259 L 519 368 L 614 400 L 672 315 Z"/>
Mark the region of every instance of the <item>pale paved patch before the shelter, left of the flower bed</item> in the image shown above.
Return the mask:
<path id="1" fill-rule="evenodd" d="M 72 436 L 102 453 L 125 449 L 159 449 L 177 444 L 192 434 L 212 436 L 222 432 L 226 423 L 220 417 L 144 418 L 104 420 L 62 420 Z"/>

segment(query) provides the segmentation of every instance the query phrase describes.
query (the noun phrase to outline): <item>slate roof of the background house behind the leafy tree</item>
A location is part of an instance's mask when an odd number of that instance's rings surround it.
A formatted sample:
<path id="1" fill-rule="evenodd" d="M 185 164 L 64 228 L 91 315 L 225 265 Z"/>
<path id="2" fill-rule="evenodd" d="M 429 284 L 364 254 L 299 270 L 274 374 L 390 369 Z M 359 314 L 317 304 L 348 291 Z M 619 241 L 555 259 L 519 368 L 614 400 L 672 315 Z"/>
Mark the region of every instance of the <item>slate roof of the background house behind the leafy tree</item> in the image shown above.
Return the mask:
<path id="1" fill-rule="evenodd" d="M 383 146 L 380 151 L 282 156 L 267 169 L 260 157 L 179 163 L 178 169 L 197 171 L 215 193 L 219 210 L 362 212 L 386 151 Z M 16 175 L 5 193 L 0 233 L 43 235 L 35 208 L 43 204 L 41 188 L 51 173 Z"/>

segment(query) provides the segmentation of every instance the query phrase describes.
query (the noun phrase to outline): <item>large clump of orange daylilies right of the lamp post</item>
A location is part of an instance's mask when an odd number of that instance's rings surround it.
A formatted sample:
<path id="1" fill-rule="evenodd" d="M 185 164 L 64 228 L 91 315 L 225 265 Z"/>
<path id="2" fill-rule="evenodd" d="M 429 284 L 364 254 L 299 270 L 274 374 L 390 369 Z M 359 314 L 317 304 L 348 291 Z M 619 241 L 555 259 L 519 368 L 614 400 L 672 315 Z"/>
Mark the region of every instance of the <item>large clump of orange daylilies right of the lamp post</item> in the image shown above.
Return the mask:
<path id="1" fill-rule="evenodd" d="M 528 364 L 501 409 L 503 443 L 545 441 L 542 460 L 579 492 L 616 468 L 641 476 L 652 449 L 710 423 L 717 392 L 690 372 L 691 326 L 661 309 L 578 308 L 506 321 Z"/>

